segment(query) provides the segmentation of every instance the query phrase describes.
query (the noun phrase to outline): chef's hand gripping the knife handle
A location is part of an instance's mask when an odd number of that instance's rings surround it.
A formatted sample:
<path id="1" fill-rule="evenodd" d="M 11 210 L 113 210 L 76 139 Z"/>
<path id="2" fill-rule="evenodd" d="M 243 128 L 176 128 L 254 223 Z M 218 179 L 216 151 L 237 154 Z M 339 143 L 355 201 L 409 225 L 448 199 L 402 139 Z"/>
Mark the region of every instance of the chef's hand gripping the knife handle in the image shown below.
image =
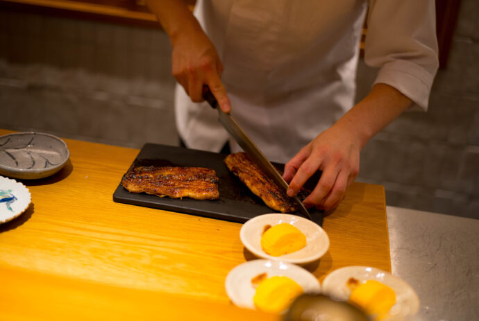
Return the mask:
<path id="1" fill-rule="evenodd" d="M 198 26 L 185 31 L 172 37 L 171 44 L 173 76 L 192 101 L 204 101 L 203 86 L 208 86 L 221 110 L 230 112 L 231 103 L 220 80 L 223 63 L 203 30 Z"/>

